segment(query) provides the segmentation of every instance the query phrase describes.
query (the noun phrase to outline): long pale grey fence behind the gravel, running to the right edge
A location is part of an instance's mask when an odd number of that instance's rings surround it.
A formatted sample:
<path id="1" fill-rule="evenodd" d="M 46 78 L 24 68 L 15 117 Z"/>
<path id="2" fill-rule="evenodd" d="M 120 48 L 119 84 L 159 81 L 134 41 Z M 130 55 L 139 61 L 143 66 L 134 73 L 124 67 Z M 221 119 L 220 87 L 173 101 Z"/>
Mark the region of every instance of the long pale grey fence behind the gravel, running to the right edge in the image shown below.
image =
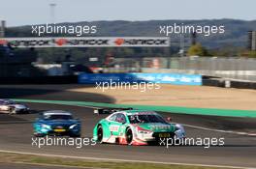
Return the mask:
<path id="1" fill-rule="evenodd" d="M 123 63 L 123 64 L 122 64 Z M 130 64 L 129 64 L 130 63 Z M 135 69 L 136 68 L 136 69 Z M 256 81 L 256 59 L 223 57 L 118 58 L 114 72 L 177 72 Z"/>

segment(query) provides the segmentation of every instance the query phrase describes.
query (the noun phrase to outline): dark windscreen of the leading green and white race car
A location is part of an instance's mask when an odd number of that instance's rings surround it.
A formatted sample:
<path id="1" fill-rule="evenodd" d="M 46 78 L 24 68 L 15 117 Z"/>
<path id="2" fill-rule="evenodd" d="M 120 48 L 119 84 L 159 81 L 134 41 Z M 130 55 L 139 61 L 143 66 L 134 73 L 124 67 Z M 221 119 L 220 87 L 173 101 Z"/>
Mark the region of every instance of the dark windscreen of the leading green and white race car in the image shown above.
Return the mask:
<path id="1" fill-rule="evenodd" d="M 160 115 L 156 114 L 129 115 L 128 119 L 131 124 L 166 123 L 166 121 Z"/>

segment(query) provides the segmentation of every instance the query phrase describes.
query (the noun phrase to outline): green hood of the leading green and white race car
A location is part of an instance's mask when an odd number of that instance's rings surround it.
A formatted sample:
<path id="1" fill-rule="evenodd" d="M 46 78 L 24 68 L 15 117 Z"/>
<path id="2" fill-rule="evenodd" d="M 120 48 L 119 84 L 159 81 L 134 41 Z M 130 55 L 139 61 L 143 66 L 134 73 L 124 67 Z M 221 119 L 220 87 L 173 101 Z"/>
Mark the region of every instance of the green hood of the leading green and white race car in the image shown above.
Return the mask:
<path id="1" fill-rule="evenodd" d="M 163 123 L 144 123 L 138 124 L 138 126 L 153 132 L 175 132 L 176 129 L 174 125 Z"/>

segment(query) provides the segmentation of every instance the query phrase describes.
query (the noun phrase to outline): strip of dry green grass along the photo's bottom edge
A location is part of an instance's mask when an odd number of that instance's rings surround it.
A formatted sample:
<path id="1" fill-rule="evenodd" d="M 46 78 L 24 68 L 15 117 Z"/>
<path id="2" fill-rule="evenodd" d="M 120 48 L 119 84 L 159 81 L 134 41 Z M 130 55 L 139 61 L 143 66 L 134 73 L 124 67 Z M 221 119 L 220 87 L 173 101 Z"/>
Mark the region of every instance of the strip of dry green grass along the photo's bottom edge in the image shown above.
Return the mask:
<path id="1" fill-rule="evenodd" d="M 109 169 L 217 169 L 217 167 L 204 167 L 193 165 L 155 164 L 145 162 L 115 162 L 103 160 L 88 160 L 66 157 L 48 157 L 41 155 L 19 155 L 13 153 L 0 153 L 2 163 L 24 163 L 38 165 L 61 165 L 84 168 Z M 219 169 L 219 167 L 218 167 Z M 222 168 L 221 168 L 222 169 Z M 224 169 L 224 167 L 223 167 Z"/>

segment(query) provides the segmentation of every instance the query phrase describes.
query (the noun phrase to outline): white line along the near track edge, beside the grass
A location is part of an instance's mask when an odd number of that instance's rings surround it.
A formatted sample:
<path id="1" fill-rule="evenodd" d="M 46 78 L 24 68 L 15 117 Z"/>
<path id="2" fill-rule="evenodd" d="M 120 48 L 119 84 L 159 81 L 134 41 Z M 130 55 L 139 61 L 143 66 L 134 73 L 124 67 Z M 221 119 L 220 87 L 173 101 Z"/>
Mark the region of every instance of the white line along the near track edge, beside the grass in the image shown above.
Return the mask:
<path id="1" fill-rule="evenodd" d="M 141 163 L 153 163 L 153 164 L 166 164 L 166 165 L 183 165 L 183 166 L 199 166 L 199 167 L 216 167 L 216 168 L 235 168 L 235 169 L 256 169 L 254 167 L 244 166 L 231 166 L 231 165 L 208 165 L 199 163 L 178 163 L 178 162 L 159 162 L 159 161 L 147 161 L 147 160 L 132 160 L 132 159 L 112 159 L 112 158 L 101 158 L 101 157 L 86 157 L 86 156 L 73 156 L 73 155 L 50 155 L 50 154 L 36 154 L 36 153 L 25 153 L 0 150 L 1 153 L 18 154 L 18 155 L 39 155 L 48 157 L 63 157 L 63 158 L 76 158 L 76 159 L 90 159 L 90 160 L 104 160 L 104 161 L 119 161 L 119 162 L 141 162 Z"/>

